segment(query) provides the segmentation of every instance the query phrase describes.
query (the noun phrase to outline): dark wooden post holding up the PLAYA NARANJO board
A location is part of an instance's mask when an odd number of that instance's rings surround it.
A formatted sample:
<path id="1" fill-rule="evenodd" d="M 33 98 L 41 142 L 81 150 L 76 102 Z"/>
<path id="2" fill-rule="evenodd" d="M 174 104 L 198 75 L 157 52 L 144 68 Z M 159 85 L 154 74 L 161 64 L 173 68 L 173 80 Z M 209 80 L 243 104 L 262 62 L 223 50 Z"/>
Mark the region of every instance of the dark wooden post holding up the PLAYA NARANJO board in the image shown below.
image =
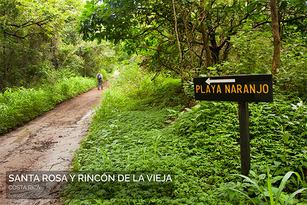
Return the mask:
<path id="1" fill-rule="evenodd" d="M 238 102 L 238 106 L 240 126 L 241 174 L 247 176 L 251 168 L 248 103 Z"/>

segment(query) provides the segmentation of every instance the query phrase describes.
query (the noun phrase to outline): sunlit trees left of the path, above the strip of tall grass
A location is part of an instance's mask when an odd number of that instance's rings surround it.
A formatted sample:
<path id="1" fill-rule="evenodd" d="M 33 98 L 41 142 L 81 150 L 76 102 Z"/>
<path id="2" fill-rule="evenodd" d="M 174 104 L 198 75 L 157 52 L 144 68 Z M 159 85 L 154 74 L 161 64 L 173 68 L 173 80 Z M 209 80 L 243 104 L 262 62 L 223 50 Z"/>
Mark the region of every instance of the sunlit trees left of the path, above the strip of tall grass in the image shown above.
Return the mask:
<path id="1" fill-rule="evenodd" d="M 117 64 L 109 43 L 85 43 L 76 27 L 79 0 L 0 2 L 0 91 L 70 76 L 108 78 Z M 54 76 L 53 76 L 54 77 Z M 47 79 L 47 81 L 46 81 Z"/>

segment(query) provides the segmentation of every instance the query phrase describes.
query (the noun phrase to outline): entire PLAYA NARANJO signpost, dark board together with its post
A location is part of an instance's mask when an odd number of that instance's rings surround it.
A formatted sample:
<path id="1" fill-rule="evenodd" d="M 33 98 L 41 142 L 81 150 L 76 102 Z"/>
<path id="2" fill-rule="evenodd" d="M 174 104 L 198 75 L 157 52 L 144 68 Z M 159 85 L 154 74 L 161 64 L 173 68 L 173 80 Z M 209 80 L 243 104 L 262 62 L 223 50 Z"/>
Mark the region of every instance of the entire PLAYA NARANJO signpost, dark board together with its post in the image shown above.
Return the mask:
<path id="1" fill-rule="evenodd" d="M 272 74 L 194 77 L 196 100 L 237 101 L 241 173 L 251 166 L 248 102 L 273 102 Z"/>

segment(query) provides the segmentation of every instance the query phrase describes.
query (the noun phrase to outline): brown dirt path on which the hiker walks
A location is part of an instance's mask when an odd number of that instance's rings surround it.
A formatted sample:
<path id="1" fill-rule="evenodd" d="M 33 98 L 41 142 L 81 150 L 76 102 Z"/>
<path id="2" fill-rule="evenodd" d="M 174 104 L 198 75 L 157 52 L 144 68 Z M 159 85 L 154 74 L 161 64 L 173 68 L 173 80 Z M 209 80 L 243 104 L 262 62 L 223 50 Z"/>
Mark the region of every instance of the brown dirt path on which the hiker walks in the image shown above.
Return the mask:
<path id="1" fill-rule="evenodd" d="M 108 88 L 103 83 L 104 90 Z M 6 171 L 68 171 L 85 136 L 92 108 L 104 90 L 94 88 L 60 104 L 23 127 L 0 135 L 0 204 L 58 204 L 56 200 L 6 199 Z"/>

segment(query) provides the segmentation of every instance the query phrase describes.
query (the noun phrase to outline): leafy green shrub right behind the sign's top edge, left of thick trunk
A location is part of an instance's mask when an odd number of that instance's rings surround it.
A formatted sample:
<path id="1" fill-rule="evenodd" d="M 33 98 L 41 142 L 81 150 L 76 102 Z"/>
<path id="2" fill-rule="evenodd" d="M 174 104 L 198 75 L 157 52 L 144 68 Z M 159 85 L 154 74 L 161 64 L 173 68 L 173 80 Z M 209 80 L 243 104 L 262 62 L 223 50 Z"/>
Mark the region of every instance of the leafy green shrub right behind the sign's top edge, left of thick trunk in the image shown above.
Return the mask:
<path id="1" fill-rule="evenodd" d="M 222 70 L 223 75 L 270 73 L 271 37 L 271 32 L 253 31 L 250 23 L 244 24 L 242 31 L 231 39 L 233 49 L 229 60 L 217 69 Z"/>

